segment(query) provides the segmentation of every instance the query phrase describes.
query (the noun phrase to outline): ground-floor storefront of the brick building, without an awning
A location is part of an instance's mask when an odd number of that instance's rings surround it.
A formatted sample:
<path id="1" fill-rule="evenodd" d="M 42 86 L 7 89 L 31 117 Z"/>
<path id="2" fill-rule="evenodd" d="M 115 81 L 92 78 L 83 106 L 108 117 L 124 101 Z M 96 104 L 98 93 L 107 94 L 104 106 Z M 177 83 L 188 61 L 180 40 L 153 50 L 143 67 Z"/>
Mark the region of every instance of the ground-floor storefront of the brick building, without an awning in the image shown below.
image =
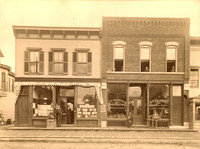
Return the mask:
<path id="1" fill-rule="evenodd" d="M 167 83 L 108 83 L 107 125 L 151 126 L 153 111 L 158 126 L 183 125 L 183 86 Z"/>

